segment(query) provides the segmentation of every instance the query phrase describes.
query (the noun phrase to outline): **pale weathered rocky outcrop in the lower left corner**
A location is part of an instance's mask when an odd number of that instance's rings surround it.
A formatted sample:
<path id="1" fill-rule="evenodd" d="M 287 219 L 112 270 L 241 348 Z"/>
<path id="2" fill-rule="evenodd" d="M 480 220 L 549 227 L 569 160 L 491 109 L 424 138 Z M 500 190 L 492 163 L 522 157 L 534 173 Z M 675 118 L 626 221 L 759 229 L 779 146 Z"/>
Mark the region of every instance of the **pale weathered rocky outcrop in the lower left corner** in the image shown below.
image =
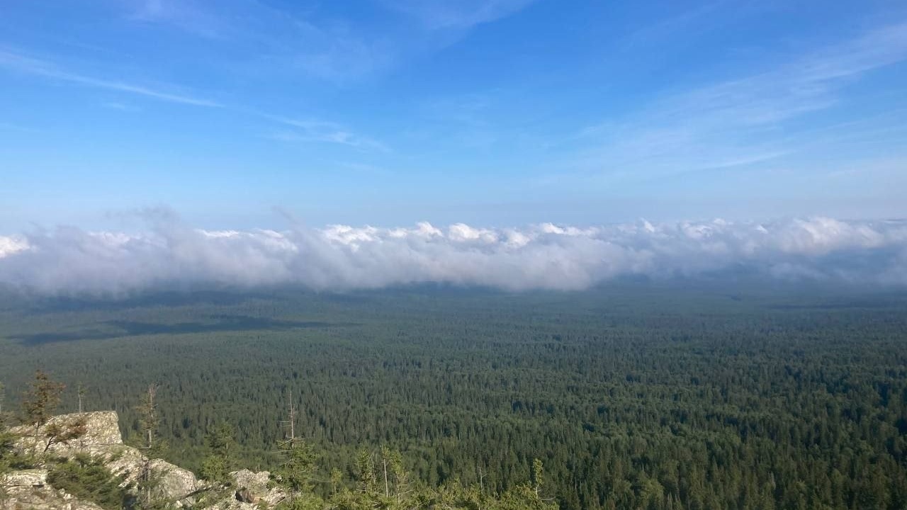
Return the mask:
<path id="1" fill-rule="evenodd" d="M 45 432 L 48 427 L 84 427 L 84 434 L 65 443 L 48 446 Z M 146 466 L 157 480 L 154 495 L 176 507 L 218 508 L 224 510 L 257 510 L 261 505 L 273 507 L 286 494 L 279 489 L 269 488 L 267 471 L 255 473 L 242 469 L 231 475 L 234 484 L 229 489 L 214 488 L 188 469 L 175 466 L 162 459 L 149 459 L 141 451 L 123 444 L 120 434 L 119 417 L 115 411 L 75 413 L 53 417 L 47 425 L 34 430 L 33 427 L 15 427 L 20 435 L 16 447 L 22 450 L 42 452 L 46 449 L 54 456 L 75 456 L 84 454 L 100 459 L 102 464 L 115 476 L 124 477 L 124 485 L 136 485 Z M 91 503 L 79 502 L 71 495 L 65 495 L 47 485 L 47 473 L 43 470 L 17 471 L 6 476 L 3 485 L 7 487 L 7 503 L 0 510 L 19 508 L 68 510 L 95 510 Z M 44 501 L 50 503 L 42 503 Z M 12 503 L 9 503 L 12 502 Z"/>

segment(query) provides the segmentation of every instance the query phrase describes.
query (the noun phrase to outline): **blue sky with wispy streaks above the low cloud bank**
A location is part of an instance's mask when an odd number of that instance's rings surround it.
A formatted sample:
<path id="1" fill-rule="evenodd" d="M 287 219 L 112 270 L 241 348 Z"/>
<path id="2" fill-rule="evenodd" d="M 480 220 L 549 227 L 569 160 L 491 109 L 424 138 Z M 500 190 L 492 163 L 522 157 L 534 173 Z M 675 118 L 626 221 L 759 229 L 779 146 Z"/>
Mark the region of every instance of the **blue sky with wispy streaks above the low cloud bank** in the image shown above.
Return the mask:
<path id="1" fill-rule="evenodd" d="M 904 217 L 905 60 L 902 1 L 5 2 L 0 233 Z"/>

